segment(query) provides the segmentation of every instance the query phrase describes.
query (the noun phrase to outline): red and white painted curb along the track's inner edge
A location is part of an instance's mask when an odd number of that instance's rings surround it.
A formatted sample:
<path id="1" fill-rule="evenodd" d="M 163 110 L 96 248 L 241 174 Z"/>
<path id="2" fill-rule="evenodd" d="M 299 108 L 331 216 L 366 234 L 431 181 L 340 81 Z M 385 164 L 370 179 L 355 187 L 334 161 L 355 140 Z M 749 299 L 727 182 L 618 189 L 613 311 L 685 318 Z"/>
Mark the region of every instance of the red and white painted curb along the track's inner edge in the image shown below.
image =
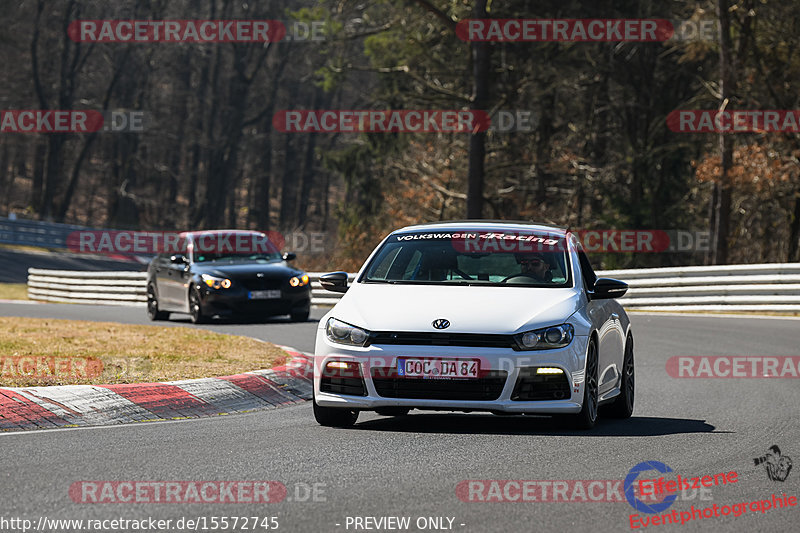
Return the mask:
<path id="1" fill-rule="evenodd" d="M 313 357 L 280 346 L 285 365 L 219 378 L 0 388 L 0 431 L 106 426 L 244 413 L 311 399 Z"/>

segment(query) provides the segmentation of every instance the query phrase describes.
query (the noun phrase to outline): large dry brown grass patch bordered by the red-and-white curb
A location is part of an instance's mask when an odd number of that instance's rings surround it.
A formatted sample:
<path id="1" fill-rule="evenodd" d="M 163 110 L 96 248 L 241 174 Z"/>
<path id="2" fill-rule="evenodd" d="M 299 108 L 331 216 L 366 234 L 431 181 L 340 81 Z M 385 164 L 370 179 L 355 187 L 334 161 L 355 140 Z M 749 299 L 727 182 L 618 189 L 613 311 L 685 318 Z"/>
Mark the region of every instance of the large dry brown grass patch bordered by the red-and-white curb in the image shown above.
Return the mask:
<path id="1" fill-rule="evenodd" d="M 7 387 L 224 376 L 288 358 L 270 343 L 200 329 L 0 317 L 0 385 Z"/>

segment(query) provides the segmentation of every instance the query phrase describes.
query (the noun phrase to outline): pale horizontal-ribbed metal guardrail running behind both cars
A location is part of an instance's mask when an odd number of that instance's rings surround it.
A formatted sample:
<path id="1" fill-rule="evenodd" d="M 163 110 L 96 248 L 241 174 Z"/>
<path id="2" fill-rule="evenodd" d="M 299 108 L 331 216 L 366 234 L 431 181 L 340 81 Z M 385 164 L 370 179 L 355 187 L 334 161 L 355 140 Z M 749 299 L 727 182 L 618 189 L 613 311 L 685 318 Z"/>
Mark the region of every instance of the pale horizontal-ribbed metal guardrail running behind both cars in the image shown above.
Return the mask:
<path id="1" fill-rule="evenodd" d="M 309 272 L 311 303 L 334 305 L 341 294 L 319 284 L 322 272 Z M 620 300 L 628 309 L 800 312 L 800 263 L 670 267 L 598 271 L 619 278 L 630 289 Z M 143 272 L 28 270 L 32 300 L 143 305 Z M 350 274 L 352 282 L 355 274 Z"/>

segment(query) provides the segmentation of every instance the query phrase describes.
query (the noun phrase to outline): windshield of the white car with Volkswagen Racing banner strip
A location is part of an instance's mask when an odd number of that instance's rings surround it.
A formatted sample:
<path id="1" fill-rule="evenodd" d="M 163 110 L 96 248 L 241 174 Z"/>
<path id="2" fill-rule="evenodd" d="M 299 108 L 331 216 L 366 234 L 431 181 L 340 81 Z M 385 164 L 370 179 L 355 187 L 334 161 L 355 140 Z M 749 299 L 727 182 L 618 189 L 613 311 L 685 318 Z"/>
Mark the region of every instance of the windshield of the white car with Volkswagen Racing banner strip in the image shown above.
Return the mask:
<path id="1" fill-rule="evenodd" d="M 531 287 L 572 283 L 563 237 L 486 231 L 393 234 L 360 281 Z"/>

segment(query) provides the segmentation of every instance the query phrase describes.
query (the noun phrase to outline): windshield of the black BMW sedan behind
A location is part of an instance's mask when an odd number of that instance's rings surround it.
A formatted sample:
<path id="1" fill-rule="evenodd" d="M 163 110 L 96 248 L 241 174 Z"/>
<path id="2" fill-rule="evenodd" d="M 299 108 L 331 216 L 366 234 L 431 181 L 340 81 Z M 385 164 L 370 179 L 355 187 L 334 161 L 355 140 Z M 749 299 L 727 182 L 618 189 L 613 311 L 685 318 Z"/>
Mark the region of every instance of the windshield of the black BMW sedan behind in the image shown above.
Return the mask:
<path id="1" fill-rule="evenodd" d="M 203 233 L 192 239 L 195 263 L 280 261 L 278 248 L 262 233 Z"/>

